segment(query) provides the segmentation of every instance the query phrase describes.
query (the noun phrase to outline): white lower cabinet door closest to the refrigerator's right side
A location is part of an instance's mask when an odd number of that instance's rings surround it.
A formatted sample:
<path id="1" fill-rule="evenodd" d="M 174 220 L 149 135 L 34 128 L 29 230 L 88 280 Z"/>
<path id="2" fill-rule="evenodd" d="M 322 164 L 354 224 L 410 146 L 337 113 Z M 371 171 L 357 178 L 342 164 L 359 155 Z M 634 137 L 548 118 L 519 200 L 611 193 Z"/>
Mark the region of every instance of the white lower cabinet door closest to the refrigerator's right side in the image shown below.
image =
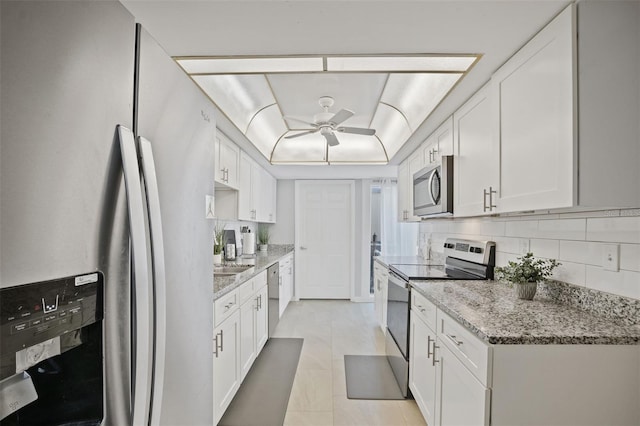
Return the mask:
<path id="1" fill-rule="evenodd" d="M 213 418 L 218 423 L 240 387 L 240 313 L 236 309 L 214 330 Z"/>

